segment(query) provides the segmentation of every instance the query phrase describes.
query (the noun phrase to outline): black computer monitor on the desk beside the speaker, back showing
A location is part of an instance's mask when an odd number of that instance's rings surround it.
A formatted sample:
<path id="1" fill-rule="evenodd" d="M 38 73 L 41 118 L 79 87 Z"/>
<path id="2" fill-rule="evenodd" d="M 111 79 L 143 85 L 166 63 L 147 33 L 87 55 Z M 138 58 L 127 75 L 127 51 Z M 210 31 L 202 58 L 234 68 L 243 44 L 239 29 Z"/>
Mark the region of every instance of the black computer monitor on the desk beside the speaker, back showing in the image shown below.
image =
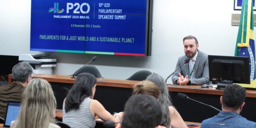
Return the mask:
<path id="1" fill-rule="evenodd" d="M 218 87 L 232 83 L 250 84 L 249 57 L 208 55 L 210 81 Z"/>

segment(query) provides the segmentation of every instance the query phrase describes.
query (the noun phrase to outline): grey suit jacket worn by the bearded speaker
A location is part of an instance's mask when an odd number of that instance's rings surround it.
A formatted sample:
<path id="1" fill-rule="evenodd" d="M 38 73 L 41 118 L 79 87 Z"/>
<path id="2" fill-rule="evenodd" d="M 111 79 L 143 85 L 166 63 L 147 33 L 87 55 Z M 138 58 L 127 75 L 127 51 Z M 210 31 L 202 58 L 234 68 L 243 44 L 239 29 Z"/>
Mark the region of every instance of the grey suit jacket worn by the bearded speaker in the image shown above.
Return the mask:
<path id="1" fill-rule="evenodd" d="M 186 55 L 179 57 L 175 70 L 177 70 L 181 65 L 184 63 L 185 59 L 187 58 Z M 174 70 L 174 71 L 175 71 Z M 188 75 L 188 63 L 184 64 L 180 69 L 178 69 L 172 75 L 172 82 L 176 83 L 179 74 L 183 75 L 184 77 Z M 194 71 L 195 79 L 189 79 L 191 85 L 203 85 L 209 84 L 209 66 L 208 66 L 208 55 L 199 51 L 197 54 L 197 59 L 195 63 L 195 71 Z"/>

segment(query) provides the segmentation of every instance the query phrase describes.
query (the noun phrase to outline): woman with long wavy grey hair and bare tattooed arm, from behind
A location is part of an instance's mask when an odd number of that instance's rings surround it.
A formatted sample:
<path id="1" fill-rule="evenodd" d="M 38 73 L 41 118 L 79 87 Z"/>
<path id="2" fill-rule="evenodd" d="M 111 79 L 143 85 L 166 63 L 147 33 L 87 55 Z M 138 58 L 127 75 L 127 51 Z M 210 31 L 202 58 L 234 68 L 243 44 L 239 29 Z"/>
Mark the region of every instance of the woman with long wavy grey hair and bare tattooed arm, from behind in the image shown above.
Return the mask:
<path id="1" fill-rule="evenodd" d="M 163 110 L 161 125 L 172 128 L 187 128 L 181 115 L 172 105 L 169 91 L 163 77 L 159 74 L 151 74 L 147 76 L 146 80 L 154 82 L 161 90 L 159 97 L 159 102 L 161 103 Z"/>

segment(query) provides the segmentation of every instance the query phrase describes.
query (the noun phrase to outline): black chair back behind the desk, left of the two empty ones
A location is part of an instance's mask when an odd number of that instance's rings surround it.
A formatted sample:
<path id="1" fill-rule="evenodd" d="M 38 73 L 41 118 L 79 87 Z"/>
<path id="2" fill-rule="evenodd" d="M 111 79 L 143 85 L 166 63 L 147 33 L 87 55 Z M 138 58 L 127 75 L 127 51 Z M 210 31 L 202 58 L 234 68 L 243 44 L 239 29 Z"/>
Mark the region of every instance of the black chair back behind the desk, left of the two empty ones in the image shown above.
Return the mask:
<path id="1" fill-rule="evenodd" d="M 78 72 L 75 73 L 75 76 L 84 73 L 84 72 L 89 72 L 91 74 L 93 74 L 96 78 L 104 78 L 101 74 L 100 71 L 98 70 L 97 67 L 95 67 L 94 65 L 86 65 L 85 67 L 83 67 L 82 69 L 80 69 Z"/>

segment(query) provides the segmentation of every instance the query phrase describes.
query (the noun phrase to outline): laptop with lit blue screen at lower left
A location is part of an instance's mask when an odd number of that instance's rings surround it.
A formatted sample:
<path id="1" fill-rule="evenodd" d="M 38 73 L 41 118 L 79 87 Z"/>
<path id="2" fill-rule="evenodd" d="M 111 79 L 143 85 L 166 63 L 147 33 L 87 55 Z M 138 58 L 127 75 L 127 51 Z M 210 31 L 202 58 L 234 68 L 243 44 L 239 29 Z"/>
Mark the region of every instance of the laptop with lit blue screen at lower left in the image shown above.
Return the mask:
<path id="1" fill-rule="evenodd" d="M 20 104 L 20 101 L 8 101 L 3 127 L 9 128 L 11 126 L 11 122 L 16 120 L 19 113 Z"/>

